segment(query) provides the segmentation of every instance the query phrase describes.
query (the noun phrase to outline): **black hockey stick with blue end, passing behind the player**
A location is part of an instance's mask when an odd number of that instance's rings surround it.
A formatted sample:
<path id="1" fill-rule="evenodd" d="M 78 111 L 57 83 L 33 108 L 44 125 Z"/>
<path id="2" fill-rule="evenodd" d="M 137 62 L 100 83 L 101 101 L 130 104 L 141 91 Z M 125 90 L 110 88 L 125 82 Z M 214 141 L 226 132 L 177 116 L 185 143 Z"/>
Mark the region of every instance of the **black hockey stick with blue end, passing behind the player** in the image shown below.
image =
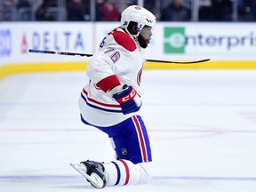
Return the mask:
<path id="1" fill-rule="evenodd" d="M 36 50 L 36 49 L 29 49 L 28 52 L 35 52 L 35 53 L 46 53 L 46 54 L 60 54 L 60 55 L 68 55 L 68 56 L 82 56 L 82 57 L 92 57 L 92 54 L 85 54 L 85 53 L 77 53 L 77 52 L 53 52 L 49 50 Z M 172 61 L 172 60 L 146 60 L 148 62 L 159 62 L 159 63 L 173 63 L 173 64 L 194 64 L 205 62 L 211 59 L 204 59 L 204 60 L 193 60 L 193 61 Z"/>

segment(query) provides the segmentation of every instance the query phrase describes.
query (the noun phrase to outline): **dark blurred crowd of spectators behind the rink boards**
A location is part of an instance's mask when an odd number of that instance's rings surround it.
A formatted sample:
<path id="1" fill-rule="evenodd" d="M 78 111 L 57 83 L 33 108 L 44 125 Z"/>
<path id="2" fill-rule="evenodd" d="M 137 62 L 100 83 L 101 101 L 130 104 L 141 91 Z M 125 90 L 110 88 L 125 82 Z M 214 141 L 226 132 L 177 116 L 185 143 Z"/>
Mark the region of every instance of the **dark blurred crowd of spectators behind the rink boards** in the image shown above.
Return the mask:
<path id="1" fill-rule="evenodd" d="M 1 0 L 0 20 L 117 21 L 136 0 Z M 255 21 L 256 0 L 144 0 L 159 21 Z"/>

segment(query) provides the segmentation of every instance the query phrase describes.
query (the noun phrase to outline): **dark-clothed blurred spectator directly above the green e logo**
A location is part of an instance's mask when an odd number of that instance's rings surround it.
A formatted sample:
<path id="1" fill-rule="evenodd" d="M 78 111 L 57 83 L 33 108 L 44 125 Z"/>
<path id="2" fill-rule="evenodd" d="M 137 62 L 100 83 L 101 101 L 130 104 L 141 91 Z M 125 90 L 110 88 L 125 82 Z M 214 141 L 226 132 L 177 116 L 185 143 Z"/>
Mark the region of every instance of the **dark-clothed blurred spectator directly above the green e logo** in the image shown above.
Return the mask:
<path id="1" fill-rule="evenodd" d="M 163 9 L 161 20 L 188 21 L 191 20 L 191 12 L 184 6 L 183 0 L 172 0 L 171 4 Z"/>

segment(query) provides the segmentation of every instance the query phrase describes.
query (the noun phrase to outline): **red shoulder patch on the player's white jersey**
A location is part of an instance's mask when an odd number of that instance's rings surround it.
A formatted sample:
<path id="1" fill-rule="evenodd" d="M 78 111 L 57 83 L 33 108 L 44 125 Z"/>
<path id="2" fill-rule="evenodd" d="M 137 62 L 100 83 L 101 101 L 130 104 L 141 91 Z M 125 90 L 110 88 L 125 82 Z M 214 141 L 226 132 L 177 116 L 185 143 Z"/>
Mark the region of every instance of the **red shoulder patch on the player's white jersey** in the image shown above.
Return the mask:
<path id="1" fill-rule="evenodd" d="M 129 36 L 127 33 L 124 33 L 124 31 L 114 30 L 111 32 L 111 35 L 114 37 L 116 43 L 123 46 L 124 49 L 130 52 L 136 50 L 136 44 L 132 40 L 132 37 Z"/>

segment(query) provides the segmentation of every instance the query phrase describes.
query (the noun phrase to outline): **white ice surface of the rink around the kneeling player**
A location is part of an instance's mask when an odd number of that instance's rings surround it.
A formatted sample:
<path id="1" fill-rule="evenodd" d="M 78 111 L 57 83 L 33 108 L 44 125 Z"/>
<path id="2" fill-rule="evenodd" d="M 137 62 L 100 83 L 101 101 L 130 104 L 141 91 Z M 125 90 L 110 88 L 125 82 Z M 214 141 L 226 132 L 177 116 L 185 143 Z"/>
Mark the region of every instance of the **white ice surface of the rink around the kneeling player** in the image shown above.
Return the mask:
<path id="1" fill-rule="evenodd" d="M 0 81 L 0 191 L 95 191 L 69 163 L 111 161 L 107 135 L 80 122 L 84 72 Z M 145 70 L 142 118 L 154 177 L 101 191 L 255 192 L 256 70 Z"/>

